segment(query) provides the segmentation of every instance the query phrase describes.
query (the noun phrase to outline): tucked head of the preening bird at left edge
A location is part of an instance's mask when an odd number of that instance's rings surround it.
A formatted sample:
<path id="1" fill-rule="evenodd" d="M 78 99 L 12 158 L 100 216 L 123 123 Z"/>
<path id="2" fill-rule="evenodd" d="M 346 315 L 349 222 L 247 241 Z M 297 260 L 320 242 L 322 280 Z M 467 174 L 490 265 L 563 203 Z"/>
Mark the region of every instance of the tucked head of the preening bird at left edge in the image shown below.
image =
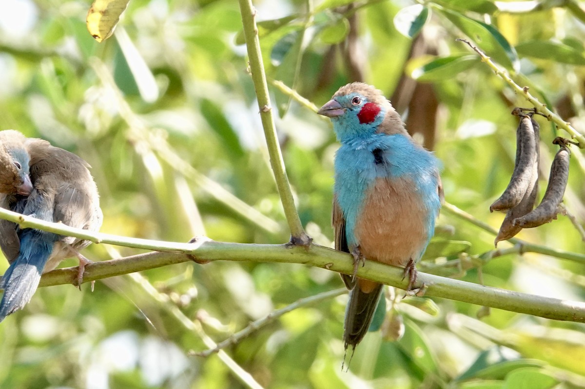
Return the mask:
<path id="1" fill-rule="evenodd" d="M 28 196 L 33 190 L 25 141 L 18 131 L 0 131 L 0 193 Z"/>

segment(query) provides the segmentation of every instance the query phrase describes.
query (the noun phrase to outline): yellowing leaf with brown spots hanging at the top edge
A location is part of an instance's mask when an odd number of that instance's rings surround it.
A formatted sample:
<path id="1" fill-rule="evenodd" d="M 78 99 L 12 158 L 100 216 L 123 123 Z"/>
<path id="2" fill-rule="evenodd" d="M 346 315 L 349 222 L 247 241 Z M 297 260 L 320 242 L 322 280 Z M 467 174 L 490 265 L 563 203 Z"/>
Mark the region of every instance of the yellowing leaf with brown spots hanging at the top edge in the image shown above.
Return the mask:
<path id="1" fill-rule="evenodd" d="M 112 36 L 130 0 L 95 0 L 87 13 L 87 30 L 98 42 Z"/>

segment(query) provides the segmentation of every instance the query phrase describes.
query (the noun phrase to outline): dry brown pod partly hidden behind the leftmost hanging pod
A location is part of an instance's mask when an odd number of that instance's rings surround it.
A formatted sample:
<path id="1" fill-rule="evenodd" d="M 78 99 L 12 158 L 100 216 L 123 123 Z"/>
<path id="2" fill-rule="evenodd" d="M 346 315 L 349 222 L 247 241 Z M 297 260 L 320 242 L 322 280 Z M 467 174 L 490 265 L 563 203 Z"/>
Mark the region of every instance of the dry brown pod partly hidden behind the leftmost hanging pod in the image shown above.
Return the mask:
<path id="1" fill-rule="evenodd" d="M 532 119 L 532 117 L 531 121 L 532 127 L 534 128 L 535 138 L 538 140 L 540 136 L 540 126 L 534 119 Z M 524 194 L 524 197 L 522 197 L 520 203 L 508 210 L 508 213 L 504 217 L 500 231 L 498 231 L 498 235 L 495 237 L 494 245 L 496 247 L 498 242 L 514 237 L 514 235 L 518 234 L 518 232 L 522 230 L 522 227 L 519 225 L 514 225 L 514 220 L 524 216 L 525 214 L 532 211 L 532 208 L 534 208 L 536 196 L 538 195 L 538 162 L 540 160 L 540 148 L 538 147 L 538 142 L 536 143 L 535 150 L 536 161 L 534 161 L 534 164 L 532 165 L 532 174 L 530 182 L 528 183 L 528 189 L 526 190 L 526 193 Z"/>

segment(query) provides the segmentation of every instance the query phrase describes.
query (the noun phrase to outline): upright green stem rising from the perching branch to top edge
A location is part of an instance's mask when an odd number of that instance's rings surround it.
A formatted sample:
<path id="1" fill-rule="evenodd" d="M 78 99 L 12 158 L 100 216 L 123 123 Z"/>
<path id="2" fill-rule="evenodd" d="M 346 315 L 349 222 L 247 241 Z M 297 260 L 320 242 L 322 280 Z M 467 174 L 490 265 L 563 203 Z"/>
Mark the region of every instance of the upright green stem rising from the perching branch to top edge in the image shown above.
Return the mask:
<path id="1" fill-rule="evenodd" d="M 240 13 L 242 13 L 242 24 L 244 36 L 246 37 L 246 47 L 250 59 L 250 72 L 252 72 L 252 81 L 258 107 L 260 108 L 260 119 L 266 136 L 266 144 L 270 155 L 270 165 L 274 171 L 274 179 L 280 200 L 283 203 L 284 214 L 287 217 L 288 227 L 291 230 L 291 241 L 294 243 L 308 245 L 311 238 L 302 228 L 301 219 L 298 216 L 297 208 L 292 197 L 290 183 L 288 182 L 287 172 L 284 167 L 283 155 L 278 146 L 276 127 L 274 126 L 273 109 L 270 105 L 268 85 L 266 75 L 264 74 L 264 64 L 260 53 L 260 41 L 258 39 L 258 29 L 256 27 L 256 9 L 252 5 L 252 0 L 239 0 Z"/>

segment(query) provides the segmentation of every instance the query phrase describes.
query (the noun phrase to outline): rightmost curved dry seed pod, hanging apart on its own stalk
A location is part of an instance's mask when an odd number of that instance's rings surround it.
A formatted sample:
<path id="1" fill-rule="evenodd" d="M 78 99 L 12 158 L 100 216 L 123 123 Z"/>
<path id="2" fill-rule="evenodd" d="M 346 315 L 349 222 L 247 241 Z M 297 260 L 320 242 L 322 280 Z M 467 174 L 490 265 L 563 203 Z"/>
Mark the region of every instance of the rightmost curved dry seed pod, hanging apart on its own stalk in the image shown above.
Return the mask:
<path id="1" fill-rule="evenodd" d="M 556 219 L 559 205 L 563 201 L 567 187 L 567 180 L 569 180 L 570 152 L 565 143 L 559 141 L 559 138 L 555 139 L 555 143 L 560 144 L 560 150 L 556 153 L 552 166 L 550 166 L 549 182 L 542 202 L 530 213 L 515 219 L 514 225 L 532 228 Z"/>

